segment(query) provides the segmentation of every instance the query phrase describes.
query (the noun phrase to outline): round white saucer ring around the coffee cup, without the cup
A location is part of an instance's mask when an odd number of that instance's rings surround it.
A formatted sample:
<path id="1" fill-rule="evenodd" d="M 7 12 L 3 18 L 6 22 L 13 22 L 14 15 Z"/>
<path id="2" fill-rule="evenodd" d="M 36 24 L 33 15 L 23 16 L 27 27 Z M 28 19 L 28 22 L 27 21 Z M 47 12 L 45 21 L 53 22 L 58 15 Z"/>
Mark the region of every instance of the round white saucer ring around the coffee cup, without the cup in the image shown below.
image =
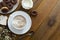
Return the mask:
<path id="1" fill-rule="evenodd" d="M 25 28 L 22 29 L 22 30 L 15 29 L 15 28 L 12 27 L 12 25 L 11 25 L 13 18 L 14 18 L 15 16 L 17 16 L 17 15 L 22 15 L 22 16 L 24 16 L 24 17 L 26 18 L 27 23 L 26 23 L 26 25 L 25 25 Z M 13 33 L 15 33 L 15 34 L 25 34 L 26 32 L 28 32 L 28 31 L 30 30 L 31 25 L 32 25 L 31 18 L 30 18 L 30 16 L 29 16 L 26 12 L 24 12 L 24 11 L 16 11 L 16 12 L 14 12 L 13 14 L 11 14 L 10 17 L 9 17 L 9 19 L 8 19 L 8 27 L 9 27 L 9 29 L 10 29 Z"/>

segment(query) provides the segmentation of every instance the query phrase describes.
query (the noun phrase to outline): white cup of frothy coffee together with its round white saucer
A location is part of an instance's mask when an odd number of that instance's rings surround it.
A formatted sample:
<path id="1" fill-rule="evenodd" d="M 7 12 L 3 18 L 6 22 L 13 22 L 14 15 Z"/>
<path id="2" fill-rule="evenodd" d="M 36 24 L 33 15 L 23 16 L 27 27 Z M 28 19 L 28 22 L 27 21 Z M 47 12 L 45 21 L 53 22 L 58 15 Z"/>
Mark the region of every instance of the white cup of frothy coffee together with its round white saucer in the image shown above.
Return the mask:
<path id="1" fill-rule="evenodd" d="M 24 11 L 16 11 L 9 16 L 8 28 L 15 34 L 26 33 L 31 25 L 31 17 Z"/>

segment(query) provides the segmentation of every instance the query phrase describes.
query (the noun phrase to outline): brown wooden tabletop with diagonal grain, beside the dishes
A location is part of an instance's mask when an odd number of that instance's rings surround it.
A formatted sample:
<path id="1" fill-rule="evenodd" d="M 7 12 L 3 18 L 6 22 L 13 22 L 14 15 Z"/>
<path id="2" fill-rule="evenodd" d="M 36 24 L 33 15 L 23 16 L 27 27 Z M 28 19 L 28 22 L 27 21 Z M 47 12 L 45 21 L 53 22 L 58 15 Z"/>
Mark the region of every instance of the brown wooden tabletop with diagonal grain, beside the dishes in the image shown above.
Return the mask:
<path id="1" fill-rule="evenodd" d="M 29 32 L 34 32 L 34 35 L 25 36 L 22 40 L 60 40 L 60 0 L 33 0 L 33 2 L 34 7 L 25 10 L 21 7 L 20 1 L 20 5 L 15 10 L 26 11 L 32 19 Z M 32 13 L 36 13 L 37 16 L 31 15 Z M 17 35 L 15 40 L 22 36 Z"/>

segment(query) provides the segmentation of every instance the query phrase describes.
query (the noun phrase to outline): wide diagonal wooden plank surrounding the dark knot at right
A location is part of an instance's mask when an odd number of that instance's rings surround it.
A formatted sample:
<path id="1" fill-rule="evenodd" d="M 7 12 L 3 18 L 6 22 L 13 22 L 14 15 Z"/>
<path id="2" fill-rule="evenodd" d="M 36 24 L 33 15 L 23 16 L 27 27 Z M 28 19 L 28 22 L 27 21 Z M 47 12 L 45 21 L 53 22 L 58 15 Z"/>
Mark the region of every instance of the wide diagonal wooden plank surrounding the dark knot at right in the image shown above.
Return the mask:
<path id="1" fill-rule="evenodd" d="M 51 2 L 51 0 L 50 0 L 50 2 Z M 33 36 L 34 40 L 50 40 L 50 39 L 51 40 L 60 40 L 59 36 L 57 36 L 57 37 L 52 36 L 56 33 L 56 30 L 59 28 L 59 25 L 60 25 L 60 11 L 59 11 L 60 0 L 57 0 L 56 2 L 57 3 L 50 11 L 50 14 L 45 18 L 45 20 L 42 22 L 42 24 L 36 31 L 35 35 Z M 48 25 L 49 20 L 54 19 L 54 18 L 56 21 L 54 22 L 54 24 L 52 26 L 49 26 Z M 56 35 L 58 35 L 58 34 L 56 34 Z M 53 39 L 52 39 L 52 37 L 53 37 Z"/>

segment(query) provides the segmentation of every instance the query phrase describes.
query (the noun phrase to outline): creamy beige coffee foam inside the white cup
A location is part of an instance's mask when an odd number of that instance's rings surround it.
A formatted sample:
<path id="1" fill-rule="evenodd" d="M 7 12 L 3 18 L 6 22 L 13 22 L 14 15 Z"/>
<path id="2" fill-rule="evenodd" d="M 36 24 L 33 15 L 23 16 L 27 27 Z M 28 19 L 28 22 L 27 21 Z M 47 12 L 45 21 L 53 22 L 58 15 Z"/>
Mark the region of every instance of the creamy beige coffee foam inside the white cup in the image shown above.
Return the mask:
<path id="1" fill-rule="evenodd" d="M 16 16 L 12 24 L 15 28 L 22 28 L 26 24 L 26 19 L 23 16 Z"/>

